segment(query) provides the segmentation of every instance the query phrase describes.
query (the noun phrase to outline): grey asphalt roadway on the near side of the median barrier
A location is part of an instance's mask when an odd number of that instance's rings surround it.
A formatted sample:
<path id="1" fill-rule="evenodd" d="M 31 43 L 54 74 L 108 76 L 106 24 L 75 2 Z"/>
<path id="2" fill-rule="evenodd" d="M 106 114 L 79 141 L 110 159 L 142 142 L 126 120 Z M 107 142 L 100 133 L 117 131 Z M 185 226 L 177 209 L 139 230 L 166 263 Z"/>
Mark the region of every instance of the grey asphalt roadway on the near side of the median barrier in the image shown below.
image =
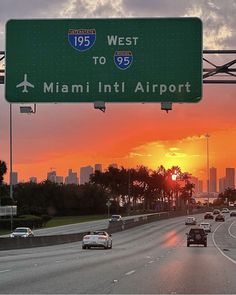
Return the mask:
<path id="1" fill-rule="evenodd" d="M 195 215 L 198 222 L 203 214 Z M 81 242 L 0 251 L 1 294 L 235 294 L 236 218 L 186 246 L 185 217 L 113 234 L 111 250 Z"/>

